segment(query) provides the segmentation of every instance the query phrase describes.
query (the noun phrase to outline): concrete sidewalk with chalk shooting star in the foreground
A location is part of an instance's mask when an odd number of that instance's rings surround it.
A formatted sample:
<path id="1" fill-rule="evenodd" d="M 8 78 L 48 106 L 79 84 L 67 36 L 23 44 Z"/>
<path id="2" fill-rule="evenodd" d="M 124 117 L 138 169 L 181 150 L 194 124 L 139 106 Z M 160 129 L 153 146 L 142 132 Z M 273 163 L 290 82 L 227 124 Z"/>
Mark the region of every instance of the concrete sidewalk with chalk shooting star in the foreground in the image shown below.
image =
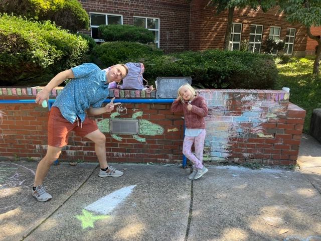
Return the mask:
<path id="1" fill-rule="evenodd" d="M 179 165 L 62 163 L 31 195 L 36 162 L 0 163 L 0 240 L 321 240 L 321 144 L 302 136 L 294 171 Z"/>

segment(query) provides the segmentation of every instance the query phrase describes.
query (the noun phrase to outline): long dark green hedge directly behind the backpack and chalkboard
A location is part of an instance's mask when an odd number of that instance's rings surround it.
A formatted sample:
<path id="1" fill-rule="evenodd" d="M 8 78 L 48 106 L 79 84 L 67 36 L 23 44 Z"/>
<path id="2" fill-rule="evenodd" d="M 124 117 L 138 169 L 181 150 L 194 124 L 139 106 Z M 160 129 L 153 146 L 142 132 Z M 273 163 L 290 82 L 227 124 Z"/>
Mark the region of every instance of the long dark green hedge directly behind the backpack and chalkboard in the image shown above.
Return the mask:
<path id="1" fill-rule="evenodd" d="M 141 62 L 143 77 L 154 84 L 157 77 L 192 77 L 199 88 L 269 89 L 278 78 L 271 55 L 243 51 L 185 51 L 165 55 L 153 46 L 131 42 L 97 45 L 93 53 L 105 68 L 116 63 Z"/>

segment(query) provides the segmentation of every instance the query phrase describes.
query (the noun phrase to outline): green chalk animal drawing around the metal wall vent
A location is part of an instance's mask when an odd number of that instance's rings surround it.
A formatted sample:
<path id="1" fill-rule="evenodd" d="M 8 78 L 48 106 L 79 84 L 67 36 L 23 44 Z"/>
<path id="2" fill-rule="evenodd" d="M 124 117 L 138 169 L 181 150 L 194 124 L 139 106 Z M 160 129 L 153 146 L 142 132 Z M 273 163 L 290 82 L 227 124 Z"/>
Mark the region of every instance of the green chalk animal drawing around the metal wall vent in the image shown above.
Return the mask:
<path id="1" fill-rule="evenodd" d="M 115 116 L 120 115 L 119 112 L 113 112 L 110 114 L 110 118 L 114 118 Z M 131 118 L 121 118 L 121 119 L 134 119 L 138 116 L 142 116 L 142 111 L 138 111 L 136 113 L 133 113 Z M 102 121 L 97 123 L 98 129 L 102 133 L 110 133 L 110 118 L 103 119 Z M 139 135 L 145 135 L 145 136 L 155 136 L 155 135 L 162 135 L 164 133 L 164 128 L 161 126 L 151 123 L 147 121 L 146 119 L 138 119 L 138 129 L 139 129 Z M 116 139 L 117 141 L 121 141 L 122 137 L 119 137 L 115 134 L 110 133 L 111 137 Z M 138 142 L 145 142 L 146 139 L 139 137 L 138 135 L 132 135 L 132 137 L 137 140 Z"/>

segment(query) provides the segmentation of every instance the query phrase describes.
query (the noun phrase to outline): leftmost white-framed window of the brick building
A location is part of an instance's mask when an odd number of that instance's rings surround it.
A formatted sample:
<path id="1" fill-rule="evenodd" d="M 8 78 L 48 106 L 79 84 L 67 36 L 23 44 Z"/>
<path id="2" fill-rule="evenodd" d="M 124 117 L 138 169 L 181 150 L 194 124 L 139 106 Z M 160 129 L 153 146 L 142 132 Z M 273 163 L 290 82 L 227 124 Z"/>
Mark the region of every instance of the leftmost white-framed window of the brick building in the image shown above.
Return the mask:
<path id="1" fill-rule="evenodd" d="M 99 25 L 108 25 L 108 24 L 122 25 L 121 15 L 90 13 L 89 16 L 90 16 L 91 37 L 94 38 L 96 42 L 103 42 L 103 40 L 99 39 L 98 37 Z"/>

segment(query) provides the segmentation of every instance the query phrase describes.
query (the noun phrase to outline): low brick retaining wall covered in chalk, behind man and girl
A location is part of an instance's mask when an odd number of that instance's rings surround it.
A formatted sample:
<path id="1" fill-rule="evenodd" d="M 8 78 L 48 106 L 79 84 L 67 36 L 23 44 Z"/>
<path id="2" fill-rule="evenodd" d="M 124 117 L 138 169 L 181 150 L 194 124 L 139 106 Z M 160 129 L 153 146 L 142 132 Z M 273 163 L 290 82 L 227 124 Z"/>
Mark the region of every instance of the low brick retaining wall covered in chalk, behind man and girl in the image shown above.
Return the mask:
<path id="1" fill-rule="evenodd" d="M 0 88 L 0 100 L 35 99 L 39 89 Z M 199 89 L 209 106 L 204 162 L 296 164 L 305 110 L 282 90 Z M 55 98 L 59 89 L 52 91 Z M 135 94 L 135 96 L 133 95 Z M 154 98 L 143 91 L 111 90 L 112 96 Z M 121 97 L 120 97 L 121 98 Z M 126 103 L 115 118 L 139 119 L 137 135 L 106 135 L 111 162 L 181 163 L 184 121 L 170 103 Z M 112 114 L 115 114 L 113 112 Z M 40 160 L 47 149 L 48 109 L 34 103 L 0 103 L 0 159 Z M 93 116 L 92 116 L 93 117 Z M 95 116 L 106 122 L 110 114 Z M 61 161 L 97 161 L 93 143 L 72 134 Z"/>

